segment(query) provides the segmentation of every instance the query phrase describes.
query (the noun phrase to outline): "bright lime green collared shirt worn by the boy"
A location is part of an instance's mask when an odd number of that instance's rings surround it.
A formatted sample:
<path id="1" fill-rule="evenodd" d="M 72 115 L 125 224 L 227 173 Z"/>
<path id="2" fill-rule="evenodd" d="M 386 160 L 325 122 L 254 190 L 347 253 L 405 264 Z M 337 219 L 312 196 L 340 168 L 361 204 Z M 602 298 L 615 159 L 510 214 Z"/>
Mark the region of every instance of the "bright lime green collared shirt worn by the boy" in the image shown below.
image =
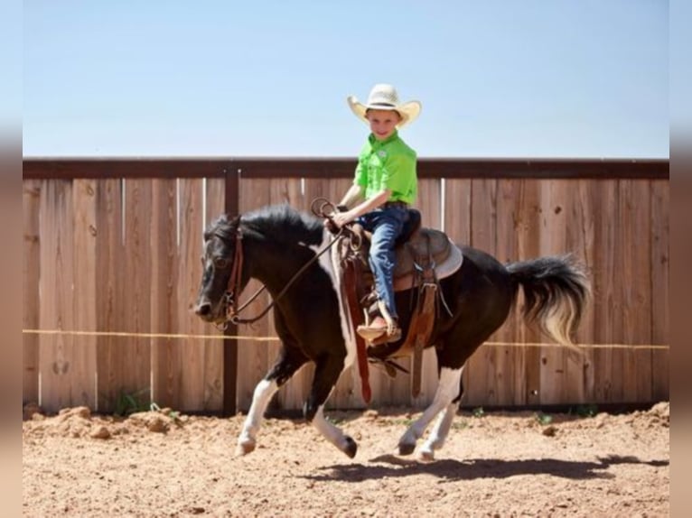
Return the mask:
<path id="1" fill-rule="evenodd" d="M 387 140 L 379 141 L 370 134 L 358 157 L 353 183 L 365 188 L 369 199 L 379 191 L 392 191 L 388 201 L 416 201 L 416 152 L 408 147 L 395 131 Z"/>

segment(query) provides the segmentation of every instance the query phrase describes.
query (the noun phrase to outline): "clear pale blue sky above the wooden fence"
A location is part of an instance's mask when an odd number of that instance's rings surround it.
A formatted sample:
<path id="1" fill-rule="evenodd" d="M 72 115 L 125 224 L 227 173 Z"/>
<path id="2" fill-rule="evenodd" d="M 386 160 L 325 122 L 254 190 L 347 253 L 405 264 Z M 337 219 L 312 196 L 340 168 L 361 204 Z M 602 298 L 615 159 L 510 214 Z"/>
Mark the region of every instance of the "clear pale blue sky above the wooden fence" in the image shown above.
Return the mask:
<path id="1" fill-rule="evenodd" d="M 669 4 L 23 3 L 25 157 L 355 157 L 381 82 L 419 157 L 668 158 Z"/>

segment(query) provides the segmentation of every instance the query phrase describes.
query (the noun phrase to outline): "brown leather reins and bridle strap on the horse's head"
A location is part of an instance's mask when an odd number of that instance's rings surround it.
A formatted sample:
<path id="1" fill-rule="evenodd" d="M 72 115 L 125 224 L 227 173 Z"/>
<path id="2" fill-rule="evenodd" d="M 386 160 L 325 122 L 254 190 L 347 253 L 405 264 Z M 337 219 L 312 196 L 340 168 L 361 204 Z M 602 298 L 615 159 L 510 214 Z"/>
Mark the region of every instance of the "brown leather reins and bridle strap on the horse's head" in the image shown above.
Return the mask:
<path id="1" fill-rule="evenodd" d="M 243 247 L 242 247 L 242 231 L 240 230 L 240 226 L 238 225 L 238 230 L 236 231 L 236 250 L 235 254 L 233 257 L 233 267 L 231 268 L 230 271 L 230 277 L 229 277 L 229 289 L 226 291 L 226 301 L 229 302 L 229 310 L 228 310 L 228 319 L 226 322 L 224 322 L 222 325 L 218 326 L 221 330 L 226 330 L 228 328 L 228 323 L 231 322 L 232 324 L 252 324 L 254 322 L 257 322 L 258 319 L 261 319 L 264 317 L 269 310 L 271 310 L 274 306 L 276 306 L 276 302 L 281 299 L 285 295 L 285 292 L 288 291 L 288 289 L 294 284 L 295 281 L 297 281 L 300 276 L 305 272 L 305 270 L 310 267 L 311 264 L 313 264 L 317 259 L 320 258 L 322 254 L 324 254 L 327 250 L 332 248 L 332 246 L 339 240 L 343 233 L 343 228 L 341 227 L 339 231 L 334 235 L 332 238 L 332 241 L 330 241 L 327 245 L 324 245 L 322 250 L 320 250 L 317 254 L 314 255 L 310 261 L 305 263 L 300 270 L 298 270 L 293 277 L 286 283 L 284 286 L 283 290 L 279 291 L 279 293 L 274 297 L 274 299 L 267 305 L 267 308 L 262 310 L 256 317 L 252 317 L 250 319 L 241 319 L 238 314 L 240 311 L 245 310 L 248 305 L 257 299 L 259 294 L 262 291 L 267 290 L 266 285 L 262 285 L 259 290 L 255 291 L 255 293 L 248 299 L 248 301 L 245 301 L 239 308 L 238 308 L 238 296 L 240 294 L 240 282 L 241 282 L 241 276 L 242 276 L 242 271 L 243 271 Z"/>

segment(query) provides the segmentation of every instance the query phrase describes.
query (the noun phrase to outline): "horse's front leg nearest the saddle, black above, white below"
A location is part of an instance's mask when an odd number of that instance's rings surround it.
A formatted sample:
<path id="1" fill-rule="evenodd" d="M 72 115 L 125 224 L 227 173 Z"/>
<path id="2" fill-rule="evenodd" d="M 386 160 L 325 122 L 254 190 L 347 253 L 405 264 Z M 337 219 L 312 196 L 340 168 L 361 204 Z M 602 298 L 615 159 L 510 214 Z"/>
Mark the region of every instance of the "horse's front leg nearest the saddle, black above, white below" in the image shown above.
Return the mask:
<path id="1" fill-rule="evenodd" d="M 317 360 L 313 386 L 304 404 L 303 412 L 305 419 L 311 422 L 325 439 L 350 458 L 354 458 L 358 451 L 356 441 L 324 417 L 324 403 L 339 380 L 343 370 L 343 360 L 340 356 L 323 356 Z"/>

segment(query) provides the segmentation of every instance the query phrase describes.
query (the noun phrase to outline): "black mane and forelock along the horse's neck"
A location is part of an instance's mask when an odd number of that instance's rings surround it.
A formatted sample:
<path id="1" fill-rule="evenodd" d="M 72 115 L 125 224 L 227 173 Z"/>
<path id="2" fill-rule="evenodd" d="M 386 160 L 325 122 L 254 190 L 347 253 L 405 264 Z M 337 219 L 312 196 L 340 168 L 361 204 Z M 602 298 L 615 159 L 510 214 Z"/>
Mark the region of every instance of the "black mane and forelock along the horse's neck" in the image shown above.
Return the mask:
<path id="1" fill-rule="evenodd" d="M 224 214 L 210 224 L 204 233 L 204 238 L 208 239 L 209 236 L 215 235 L 224 240 L 231 240 L 235 236 L 238 224 L 277 243 L 303 242 L 308 245 L 322 243 L 322 221 L 296 210 L 287 203 L 257 208 L 239 218 L 229 218 Z"/>

